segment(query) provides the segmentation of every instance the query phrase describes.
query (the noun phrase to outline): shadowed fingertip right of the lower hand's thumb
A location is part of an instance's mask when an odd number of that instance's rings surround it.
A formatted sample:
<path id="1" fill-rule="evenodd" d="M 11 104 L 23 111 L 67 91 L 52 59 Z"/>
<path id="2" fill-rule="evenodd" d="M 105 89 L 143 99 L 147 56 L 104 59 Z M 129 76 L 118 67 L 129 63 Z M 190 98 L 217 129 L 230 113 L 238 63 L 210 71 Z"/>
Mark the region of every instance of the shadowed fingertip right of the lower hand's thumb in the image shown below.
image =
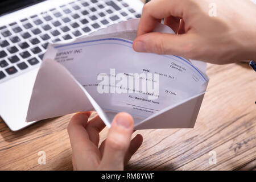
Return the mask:
<path id="1" fill-rule="evenodd" d="M 140 134 L 136 135 L 131 140 L 130 147 L 125 156 L 125 164 L 129 162 L 129 160 L 131 159 L 131 156 L 133 156 L 134 153 L 138 150 L 138 148 L 141 147 L 142 142 L 143 142 L 143 137 Z"/>

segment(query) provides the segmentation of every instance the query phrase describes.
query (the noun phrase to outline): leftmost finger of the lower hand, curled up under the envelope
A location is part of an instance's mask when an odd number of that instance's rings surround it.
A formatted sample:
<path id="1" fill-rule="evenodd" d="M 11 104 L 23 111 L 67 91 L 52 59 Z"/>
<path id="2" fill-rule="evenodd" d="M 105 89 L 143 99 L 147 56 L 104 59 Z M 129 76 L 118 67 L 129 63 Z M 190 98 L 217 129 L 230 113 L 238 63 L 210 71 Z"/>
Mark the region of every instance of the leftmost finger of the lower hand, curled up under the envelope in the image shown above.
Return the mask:
<path id="1" fill-rule="evenodd" d="M 73 115 L 68 125 L 68 134 L 73 151 L 73 160 L 76 169 L 96 169 L 100 163 L 100 151 L 90 141 L 85 130 L 88 113 Z"/>

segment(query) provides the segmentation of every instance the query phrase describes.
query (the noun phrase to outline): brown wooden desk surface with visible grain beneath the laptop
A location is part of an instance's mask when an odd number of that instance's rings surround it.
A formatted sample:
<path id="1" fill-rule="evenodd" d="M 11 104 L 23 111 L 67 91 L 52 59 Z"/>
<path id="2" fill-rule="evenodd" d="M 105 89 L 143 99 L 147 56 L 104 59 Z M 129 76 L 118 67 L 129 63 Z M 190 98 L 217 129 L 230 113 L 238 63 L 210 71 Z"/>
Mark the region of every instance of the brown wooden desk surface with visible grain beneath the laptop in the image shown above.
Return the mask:
<path id="1" fill-rule="evenodd" d="M 144 142 L 126 169 L 256 169 L 256 73 L 245 63 L 209 64 L 207 72 L 209 92 L 195 128 L 136 131 Z M 0 169 L 72 170 L 71 117 L 40 121 L 18 132 L 0 121 Z M 102 131 L 101 140 L 107 132 Z M 42 150 L 46 165 L 38 164 Z M 217 164 L 208 163 L 209 151 L 216 152 Z"/>

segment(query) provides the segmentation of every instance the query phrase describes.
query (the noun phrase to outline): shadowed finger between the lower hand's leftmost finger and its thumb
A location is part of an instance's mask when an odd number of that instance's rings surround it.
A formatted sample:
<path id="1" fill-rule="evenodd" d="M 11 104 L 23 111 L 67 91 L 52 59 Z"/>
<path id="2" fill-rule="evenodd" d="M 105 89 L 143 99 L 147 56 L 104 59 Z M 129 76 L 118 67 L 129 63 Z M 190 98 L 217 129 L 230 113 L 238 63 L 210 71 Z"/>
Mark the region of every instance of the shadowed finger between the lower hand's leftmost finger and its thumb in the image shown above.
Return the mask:
<path id="1" fill-rule="evenodd" d="M 101 118 L 97 115 L 96 117 L 90 119 L 87 123 L 85 129 L 88 132 L 90 140 L 98 146 L 98 142 L 100 141 L 100 132 L 105 128 L 105 123 L 101 120 Z"/>

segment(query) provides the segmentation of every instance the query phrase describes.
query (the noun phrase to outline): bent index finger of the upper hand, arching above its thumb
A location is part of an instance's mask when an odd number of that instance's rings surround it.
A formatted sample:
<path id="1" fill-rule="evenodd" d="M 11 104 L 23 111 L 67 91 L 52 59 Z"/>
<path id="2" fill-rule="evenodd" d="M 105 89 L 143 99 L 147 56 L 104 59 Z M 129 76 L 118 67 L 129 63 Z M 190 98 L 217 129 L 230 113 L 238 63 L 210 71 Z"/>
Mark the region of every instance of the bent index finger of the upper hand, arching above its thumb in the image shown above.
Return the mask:
<path id="1" fill-rule="evenodd" d="M 184 18 L 185 3 L 180 0 L 155 0 L 146 3 L 143 7 L 141 21 L 138 26 L 138 36 L 154 30 L 159 19 L 176 16 Z"/>

